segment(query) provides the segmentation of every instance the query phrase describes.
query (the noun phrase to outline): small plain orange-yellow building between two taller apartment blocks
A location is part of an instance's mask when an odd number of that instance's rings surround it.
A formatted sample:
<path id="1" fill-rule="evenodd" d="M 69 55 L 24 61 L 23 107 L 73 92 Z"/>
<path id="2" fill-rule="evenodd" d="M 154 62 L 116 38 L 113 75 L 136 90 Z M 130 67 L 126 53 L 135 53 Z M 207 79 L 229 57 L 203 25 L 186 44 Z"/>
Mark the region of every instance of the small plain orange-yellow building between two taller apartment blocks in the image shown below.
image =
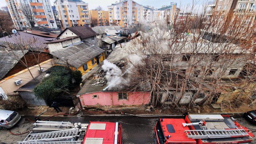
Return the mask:
<path id="1" fill-rule="evenodd" d="M 108 11 L 97 11 L 90 10 L 91 20 L 96 18 L 98 20 L 97 26 L 108 26 L 109 25 L 109 16 Z"/>

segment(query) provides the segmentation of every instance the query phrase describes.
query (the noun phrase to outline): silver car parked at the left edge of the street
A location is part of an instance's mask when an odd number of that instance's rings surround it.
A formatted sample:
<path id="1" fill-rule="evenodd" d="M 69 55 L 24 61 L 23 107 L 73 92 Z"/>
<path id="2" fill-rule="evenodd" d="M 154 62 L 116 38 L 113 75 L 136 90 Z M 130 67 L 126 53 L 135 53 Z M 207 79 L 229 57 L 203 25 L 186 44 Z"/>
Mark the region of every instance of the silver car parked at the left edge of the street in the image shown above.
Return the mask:
<path id="1" fill-rule="evenodd" d="M 0 128 L 9 129 L 20 121 L 21 115 L 15 111 L 0 110 Z"/>

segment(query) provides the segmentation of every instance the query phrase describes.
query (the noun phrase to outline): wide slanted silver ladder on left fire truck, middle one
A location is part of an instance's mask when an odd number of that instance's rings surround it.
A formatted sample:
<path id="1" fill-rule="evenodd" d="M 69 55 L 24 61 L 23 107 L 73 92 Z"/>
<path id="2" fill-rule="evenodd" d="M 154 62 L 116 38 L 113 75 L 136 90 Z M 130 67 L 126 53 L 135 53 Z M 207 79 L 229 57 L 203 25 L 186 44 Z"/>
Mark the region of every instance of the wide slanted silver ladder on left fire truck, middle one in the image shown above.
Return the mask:
<path id="1" fill-rule="evenodd" d="M 50 141 L 59 139 L 69 139 L 78 136 L 79 129 L 57 130 L 54 132 L 28 134 L 23 142 Z"/>

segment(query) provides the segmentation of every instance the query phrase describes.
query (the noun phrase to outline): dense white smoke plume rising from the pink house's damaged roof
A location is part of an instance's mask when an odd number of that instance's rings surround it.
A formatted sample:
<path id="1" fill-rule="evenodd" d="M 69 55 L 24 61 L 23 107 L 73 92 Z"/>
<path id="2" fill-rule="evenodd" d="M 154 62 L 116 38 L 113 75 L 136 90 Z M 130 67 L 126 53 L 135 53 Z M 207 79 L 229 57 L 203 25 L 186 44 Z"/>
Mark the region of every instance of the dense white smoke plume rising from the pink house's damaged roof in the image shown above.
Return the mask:
<path id="1" fill-rule="evenodd" d="M 106 71 L 106 78 L 108 80 L 107 84 L 109 87 L 121 84 L 122 70 L 118 68 L 115 64 L 108 62 L 108 60 L 103 60 L 103 65 L 101 66 L 104 71 Z"/>

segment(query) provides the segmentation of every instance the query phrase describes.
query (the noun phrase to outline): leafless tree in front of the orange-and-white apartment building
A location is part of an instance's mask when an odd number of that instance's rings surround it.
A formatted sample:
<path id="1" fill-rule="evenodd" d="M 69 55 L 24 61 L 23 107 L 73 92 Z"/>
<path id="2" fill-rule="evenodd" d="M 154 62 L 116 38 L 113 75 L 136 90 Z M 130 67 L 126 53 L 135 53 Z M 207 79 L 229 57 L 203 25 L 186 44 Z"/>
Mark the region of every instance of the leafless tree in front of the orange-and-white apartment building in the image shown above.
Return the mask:
<path id="1" fill-rule="evenodd" d="M 26 19 L 26 25 L 29 27 L 34 27 L 37 21 L 39 21 L 41 18 L 41 14 L 38 12 L 38 10 L 32 9 L 29 5 L 21 4 L 19 9 L 22 16 Z M 35 15 L 38 16 L 36 17 Z"/>

